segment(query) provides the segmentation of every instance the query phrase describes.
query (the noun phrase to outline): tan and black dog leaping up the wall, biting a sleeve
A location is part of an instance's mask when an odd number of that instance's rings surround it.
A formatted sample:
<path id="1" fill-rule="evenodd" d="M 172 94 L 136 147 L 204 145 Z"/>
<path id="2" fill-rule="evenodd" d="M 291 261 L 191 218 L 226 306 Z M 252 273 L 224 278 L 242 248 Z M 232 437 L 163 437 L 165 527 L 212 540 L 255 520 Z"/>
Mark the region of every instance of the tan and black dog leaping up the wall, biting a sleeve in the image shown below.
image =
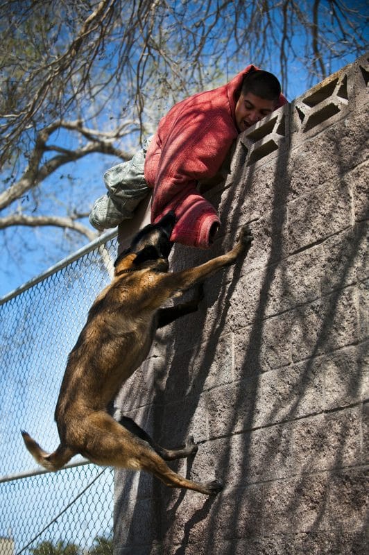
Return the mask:
<path id="1" fill-rule="evenodd" d="M 250 230 L 244 226 L 237 245 L 225 255 L 169 273 L 174 224 L 175 215 L 168 212 L 158 223 L 137 233 L 130 248 L 114 263 L 112 283 L 89 310 L 87 323 L 69 354 L 55 409 L 58 448 L 46 453 L 22 431 L 28 451 L 47 470 L 59 470 L 79 453 L 102 466 L 146 470 L 173 488 L 205 495 L 216 495 L 222 489 L 219 481 L 184 479 L 164 462 L 194 454 L 198 449 L 194 438 L 182 448 L 167 450 L 130 418 L 117 422 L 108 412 L 123 382 L 148 355 L 157 328 L 196 310 L 199 299 L 160 308 L 164 302 L 234 264 L 239 255 L 247 253 L 252 241 Z"/>

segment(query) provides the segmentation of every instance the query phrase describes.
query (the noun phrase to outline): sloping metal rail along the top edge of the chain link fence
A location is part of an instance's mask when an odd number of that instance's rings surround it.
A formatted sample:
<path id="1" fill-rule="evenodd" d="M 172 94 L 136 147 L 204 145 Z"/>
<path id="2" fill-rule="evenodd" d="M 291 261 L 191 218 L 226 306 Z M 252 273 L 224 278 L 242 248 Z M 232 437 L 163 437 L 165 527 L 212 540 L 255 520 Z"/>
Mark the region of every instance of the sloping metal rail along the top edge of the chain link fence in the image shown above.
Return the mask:
<path id="1" fill-rule="evenodd" d="M 71 255 L 69 255 L 69 256 L 63 258 L 62 260 L 60 260 L 60 262 L 58 262 L 58 264 L 54 264 L 54 266 L 51 266 L 45 272 L 41 273 L 40 275 L 37 275 L 35 278 L 32 278 L 32 280 L 29 280 L 28 282 L 24 283 L 20 287 L 17 287 L 17 289 L 13 289 L 13 291 L 10 291 L 5 296 L 1 297 L 0 298 L 0 306 L 3 305 L 5 302 L 8 302 L 12 298 L 16 297 L 17 295 L 20 295 L 20 293 L 23 293 L 27 289 L 30 289 L 31 287 L 33 287 L 37 283 L 40 283 L 43 280 L 46 280 L 46 278 L 49 278 L 50 275 L 52 275 L 53 273 L 58 272 L 62 268 L 65 268 L 65 266 L 68 266 L 68 264 L 71 264 L 72 262 L 75 262 L 75 260 L 82 257 L 83 255 L 87 255 L 87 253 L 90 253 L 95 248 L 98 248 L 99 246 L 107 243 L 108 241 L 110 241 L 110 239 L 114 239 L 114 237 L 117 237 L 117 235 L 118 235 L 117 228 L 115 228 L 112 231 L 108 231 L 108 232 L 105 232 L 105 233 L 101 234 L 99 237 L 94 239 L 94 241 L 91 241 L 91 242 L 87 243 L 87 245 L 79 248 L 78 250 L 76 250 Z"/>

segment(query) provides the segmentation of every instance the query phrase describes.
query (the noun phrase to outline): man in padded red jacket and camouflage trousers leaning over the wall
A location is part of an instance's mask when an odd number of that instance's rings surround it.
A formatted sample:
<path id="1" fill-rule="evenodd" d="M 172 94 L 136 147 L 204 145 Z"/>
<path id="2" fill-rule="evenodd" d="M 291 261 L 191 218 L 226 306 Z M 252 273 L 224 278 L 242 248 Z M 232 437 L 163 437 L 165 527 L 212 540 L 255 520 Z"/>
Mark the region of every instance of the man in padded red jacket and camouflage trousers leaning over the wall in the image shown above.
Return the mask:
<path id="1" fill-rule="evenodd" d="M 198 182 L 216 176 L 239 133 L 285 103 L 277 78 L 249 65 L 227 85 L 175 104 L 132 161 L 105 173 L 109 192 L 96 200 L 89 221 L 115 227 L 153 189 L 151 221 L 174 210 L 171 240 L 207 248 L 220 221 Z"/>

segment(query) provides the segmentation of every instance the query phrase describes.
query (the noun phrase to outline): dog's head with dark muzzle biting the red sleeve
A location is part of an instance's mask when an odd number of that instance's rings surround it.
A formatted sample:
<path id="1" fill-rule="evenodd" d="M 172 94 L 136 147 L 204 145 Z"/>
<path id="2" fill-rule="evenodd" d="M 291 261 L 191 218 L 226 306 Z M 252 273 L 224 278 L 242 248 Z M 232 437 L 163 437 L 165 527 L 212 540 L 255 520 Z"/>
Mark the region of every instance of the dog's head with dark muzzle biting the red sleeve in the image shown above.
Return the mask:
<path id="1" fill-rule="evenodd" d="M 130 246 L 114 262 L 115 275 L 145 267 L 166 271 L 173 246 L 170 239 L 174 225 L 175 214 L 171 210 L 157 223 L 149 223 L 139 230 Z"/>

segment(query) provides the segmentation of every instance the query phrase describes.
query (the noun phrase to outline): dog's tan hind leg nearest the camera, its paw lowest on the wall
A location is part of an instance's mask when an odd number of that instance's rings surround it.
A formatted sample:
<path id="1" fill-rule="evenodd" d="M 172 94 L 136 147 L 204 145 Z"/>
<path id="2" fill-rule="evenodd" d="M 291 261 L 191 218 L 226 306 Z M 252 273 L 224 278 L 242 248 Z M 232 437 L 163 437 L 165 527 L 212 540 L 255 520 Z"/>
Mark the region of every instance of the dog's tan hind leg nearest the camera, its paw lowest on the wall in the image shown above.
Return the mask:
<path id="1" fill-rule="evenodd" d="M 216 495 L 223 488 L 217 481 L 201 483 L 188 480 L 173 472 L 153 447 L 128 432 L 108 413 L 98 411 L 87 416 L 84 422 L 85 447 L 83 454 L 92 462 L 130 470 L 146 470 L 166 486 Z"/>

